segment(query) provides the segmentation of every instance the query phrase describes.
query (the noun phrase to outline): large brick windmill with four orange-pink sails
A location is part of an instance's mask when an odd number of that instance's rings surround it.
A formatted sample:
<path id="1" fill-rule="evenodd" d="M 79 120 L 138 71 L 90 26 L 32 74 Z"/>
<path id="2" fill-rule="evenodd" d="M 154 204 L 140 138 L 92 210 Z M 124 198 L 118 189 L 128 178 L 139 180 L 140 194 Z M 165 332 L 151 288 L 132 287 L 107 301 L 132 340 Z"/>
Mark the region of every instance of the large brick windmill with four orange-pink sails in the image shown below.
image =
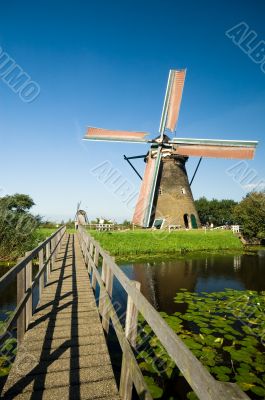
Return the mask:
<path id="1" fill-rule="evenodd" d="M 169 71 L 159 136 L 156 138 L 148 139 L 145 132 L 95 127 L 88 127 L 84 137 L 94 141 L 150 143 L 147 154 L 124 156 L 142 179 L 133 216 L 133 223 L 142 227 L 199 227 L 190 186 L 202 157 L 252 159 L 258 144 L 256 141 L 170 138 L 169 134 L 175 131 L 178 121 L 185 77 L 186 69 Z M 189 182 L 185 164 L 190 156 L 200 159 Z M 136 158 L 144 158 L 146 162 L 143 178 L 130 161 Z"/>

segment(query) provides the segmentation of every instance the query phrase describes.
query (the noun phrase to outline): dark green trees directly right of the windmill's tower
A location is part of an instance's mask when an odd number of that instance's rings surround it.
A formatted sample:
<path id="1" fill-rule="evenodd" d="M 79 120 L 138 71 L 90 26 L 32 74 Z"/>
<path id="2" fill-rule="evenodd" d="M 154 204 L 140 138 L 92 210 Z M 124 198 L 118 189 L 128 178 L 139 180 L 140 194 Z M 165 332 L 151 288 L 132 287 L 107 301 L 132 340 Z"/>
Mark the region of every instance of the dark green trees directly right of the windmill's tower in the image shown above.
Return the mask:
<path id="1" fill-rule="evenodd" d="M 213 223 L 216 226 L 233 224 L 236 205 L 237 202 L 229 199 L 207 200 L 206 197 L 201 197 L 195 200 L 195 206 L 203 225 L 207 223 Z"/>

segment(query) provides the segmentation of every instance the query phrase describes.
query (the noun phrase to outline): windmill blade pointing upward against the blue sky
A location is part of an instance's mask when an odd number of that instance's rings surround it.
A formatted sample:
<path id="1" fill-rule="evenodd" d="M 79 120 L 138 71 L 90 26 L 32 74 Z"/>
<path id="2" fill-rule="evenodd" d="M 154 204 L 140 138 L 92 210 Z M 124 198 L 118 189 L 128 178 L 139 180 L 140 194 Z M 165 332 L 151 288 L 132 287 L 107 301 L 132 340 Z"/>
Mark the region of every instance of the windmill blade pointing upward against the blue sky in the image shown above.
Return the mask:
<path id="1" fill-rule="evenodd" d="M 167 82 L 166 95 L 162 110 L 159 132 L 164 134 L 165 129 L 174 132 L 178 122 L 182 92 L 186 77 L 186 69 L 170 70 Z"/>

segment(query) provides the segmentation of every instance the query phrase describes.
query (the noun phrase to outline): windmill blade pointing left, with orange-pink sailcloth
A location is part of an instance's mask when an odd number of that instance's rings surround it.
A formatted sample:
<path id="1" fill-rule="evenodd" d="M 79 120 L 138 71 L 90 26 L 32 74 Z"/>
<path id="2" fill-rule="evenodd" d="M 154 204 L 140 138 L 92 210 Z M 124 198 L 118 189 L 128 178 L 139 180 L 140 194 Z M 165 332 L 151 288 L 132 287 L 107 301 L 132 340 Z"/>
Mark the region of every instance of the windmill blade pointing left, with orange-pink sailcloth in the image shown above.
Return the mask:
<path id="1" fill-rule="evenodd" d="M 148 135 L 146 132 L 129 132 L 129 131 L 116 131 L 102 128 L 88 127 L 84 136 L 85 140 L 105 140 L 108 142 L 134 142 L 134 143 L 147 143 L 145 137 Z"/>

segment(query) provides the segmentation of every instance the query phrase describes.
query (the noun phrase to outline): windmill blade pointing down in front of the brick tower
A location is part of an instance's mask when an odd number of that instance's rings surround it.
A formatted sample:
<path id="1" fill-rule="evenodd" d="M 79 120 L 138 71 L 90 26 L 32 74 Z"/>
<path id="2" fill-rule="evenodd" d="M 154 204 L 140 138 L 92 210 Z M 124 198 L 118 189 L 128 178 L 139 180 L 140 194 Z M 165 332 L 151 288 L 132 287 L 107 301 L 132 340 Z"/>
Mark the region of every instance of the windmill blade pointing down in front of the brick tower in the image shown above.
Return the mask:
<path id="1" fill-rule="evenodd" d="M 145 228 L 149 227 L 153 210 L 154 194 L 161 161 L 161 147 L 157 149 L 156 158 L 149 156 L 145 168 L 138 201 L 135 207 L 133 223 Z"/>

